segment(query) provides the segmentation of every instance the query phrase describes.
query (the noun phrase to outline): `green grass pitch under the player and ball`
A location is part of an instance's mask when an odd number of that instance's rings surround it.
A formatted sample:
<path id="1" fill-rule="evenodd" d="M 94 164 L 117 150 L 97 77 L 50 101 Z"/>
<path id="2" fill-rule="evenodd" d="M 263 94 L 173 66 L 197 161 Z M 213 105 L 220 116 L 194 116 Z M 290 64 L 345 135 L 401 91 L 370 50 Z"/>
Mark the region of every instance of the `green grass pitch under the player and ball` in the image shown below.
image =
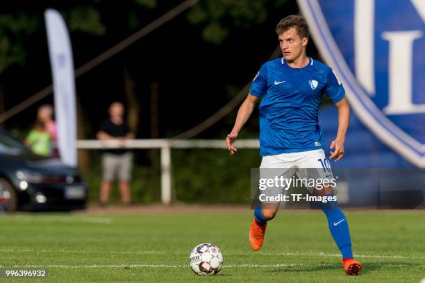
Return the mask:
<path id="1" fill-rule="evenodd" d="M 280 211 L 259 252 L 249 247 L 252 211 L 0 216 L 2 268 L 40 269 L 49 282 L 420 282 L 425 211 L 348 211 L 363 273 L 347 277 L 322 212 Z M 199 243 L 222 249 L 224 268 L 188 266 Z M 43 280 L 24 280 L 24 282 Z M 23 282 L 7 280 L 5 282 Z"/>

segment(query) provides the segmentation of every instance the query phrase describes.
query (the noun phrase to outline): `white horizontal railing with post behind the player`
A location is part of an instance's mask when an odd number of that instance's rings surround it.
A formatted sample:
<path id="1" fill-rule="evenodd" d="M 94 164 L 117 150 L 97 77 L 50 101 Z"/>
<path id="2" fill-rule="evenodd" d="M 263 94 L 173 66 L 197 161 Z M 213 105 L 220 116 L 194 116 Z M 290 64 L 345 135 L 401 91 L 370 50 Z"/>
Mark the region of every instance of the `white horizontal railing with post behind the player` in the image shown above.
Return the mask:
<path id="1" fill-rule="evenodd" d="M 78 149 L 105 148 L 160 148 L 161 152 L 161 200 L 165 204 L 172 200 L 172 148 L 226 148 L 224 139 L 131 139 L 121 141 L 100 141 L 83 139 L 77 141 Z M 258 139 L 238 139 L 236 148 L 260 148 Z"/>

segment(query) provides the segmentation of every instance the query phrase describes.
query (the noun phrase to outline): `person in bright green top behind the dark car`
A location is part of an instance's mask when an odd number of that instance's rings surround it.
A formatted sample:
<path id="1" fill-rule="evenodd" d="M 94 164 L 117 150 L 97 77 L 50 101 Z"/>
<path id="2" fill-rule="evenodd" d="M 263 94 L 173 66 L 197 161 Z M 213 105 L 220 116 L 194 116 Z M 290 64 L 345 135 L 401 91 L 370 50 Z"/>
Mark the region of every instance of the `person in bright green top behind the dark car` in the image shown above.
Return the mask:
<path id="1" fill-rule="evenodd" d="M 51 136 L 42 121 L 35 121 L 33 130 L 25 139 L 25 144 L 33 153 L 49 156 L 51 150 Z"/>

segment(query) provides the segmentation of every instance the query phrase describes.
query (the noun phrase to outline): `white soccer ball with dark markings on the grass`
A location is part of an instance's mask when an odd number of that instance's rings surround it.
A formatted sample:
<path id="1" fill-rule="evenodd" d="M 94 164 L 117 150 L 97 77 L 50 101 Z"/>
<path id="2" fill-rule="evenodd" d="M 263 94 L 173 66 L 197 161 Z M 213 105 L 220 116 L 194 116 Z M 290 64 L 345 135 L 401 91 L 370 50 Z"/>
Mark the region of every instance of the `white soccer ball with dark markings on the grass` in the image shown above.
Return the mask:
<path id="1" fill-rule="evenodd" d="M 201 243 L 190 252 L 189 264 L 197 275 L 215 275 L 223 266 L 222 251 L 211 243 Z"/>

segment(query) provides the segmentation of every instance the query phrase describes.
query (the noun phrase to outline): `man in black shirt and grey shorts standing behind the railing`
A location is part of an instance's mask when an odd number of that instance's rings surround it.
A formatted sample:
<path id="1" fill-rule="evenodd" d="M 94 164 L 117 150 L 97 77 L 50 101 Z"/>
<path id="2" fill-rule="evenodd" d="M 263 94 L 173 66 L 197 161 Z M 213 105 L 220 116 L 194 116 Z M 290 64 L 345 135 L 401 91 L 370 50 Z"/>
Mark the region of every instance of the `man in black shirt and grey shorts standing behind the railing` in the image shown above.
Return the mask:
<path id="1" fill-rule="evenodd" d="M 134 139 L 134 134 L 124 121 L 124 105 L 113 102 L 109 107 L 109 118 L 101 123 L 97 138 L 101 140 L 117 140 L 124 145 L 126 139 Z M 131 203 L 130 180 L 133 169 L 133 154 L 126 148 L 105 150 L 102 157 L 103 177 L 100 192 L 101 205 L 107 205 L 110 194 L 110 184 L 118 173 L 119 193 L 122 202 Z"/>

